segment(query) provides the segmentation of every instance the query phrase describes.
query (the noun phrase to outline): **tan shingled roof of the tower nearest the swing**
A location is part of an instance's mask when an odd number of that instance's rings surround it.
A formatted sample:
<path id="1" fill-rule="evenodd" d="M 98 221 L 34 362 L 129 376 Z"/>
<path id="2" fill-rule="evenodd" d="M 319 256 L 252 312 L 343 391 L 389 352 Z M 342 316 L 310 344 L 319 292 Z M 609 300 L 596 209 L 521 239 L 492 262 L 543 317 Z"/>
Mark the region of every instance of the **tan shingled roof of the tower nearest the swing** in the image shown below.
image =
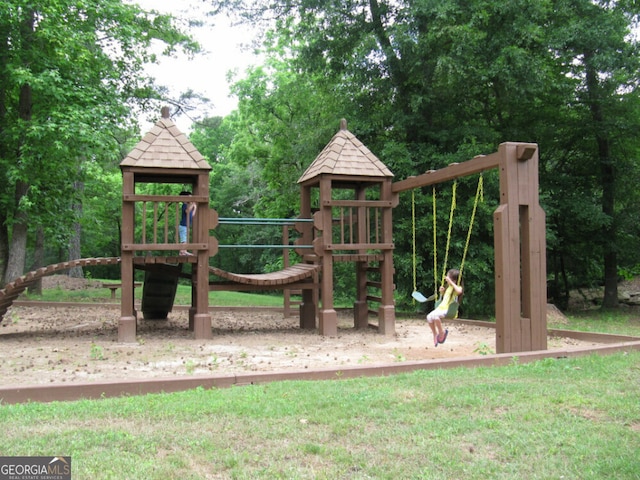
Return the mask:
<path id="1" fill-rule="evenodd" d="M 340 129 L 298 179 L 306 182 L 322 174 L 393 177 L 393 173 L 346 128 Z"/>

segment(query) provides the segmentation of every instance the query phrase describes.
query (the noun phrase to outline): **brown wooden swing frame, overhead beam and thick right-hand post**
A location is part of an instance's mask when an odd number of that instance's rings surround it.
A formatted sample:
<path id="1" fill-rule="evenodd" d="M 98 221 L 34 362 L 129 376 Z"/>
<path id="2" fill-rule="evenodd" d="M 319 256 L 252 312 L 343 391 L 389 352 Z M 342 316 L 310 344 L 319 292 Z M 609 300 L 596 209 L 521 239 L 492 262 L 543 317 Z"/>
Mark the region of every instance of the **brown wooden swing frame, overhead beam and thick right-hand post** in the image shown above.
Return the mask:
<path id="1" fill-rule="evenodd" d="M 537 144 L 502 143 L 490 155 L 395 182 L 392 192 L 492 169 L 500 176 L 500 205 L 493 213 L 496 351 L 546 350 L 546 222 L 539 204 Z"/>

